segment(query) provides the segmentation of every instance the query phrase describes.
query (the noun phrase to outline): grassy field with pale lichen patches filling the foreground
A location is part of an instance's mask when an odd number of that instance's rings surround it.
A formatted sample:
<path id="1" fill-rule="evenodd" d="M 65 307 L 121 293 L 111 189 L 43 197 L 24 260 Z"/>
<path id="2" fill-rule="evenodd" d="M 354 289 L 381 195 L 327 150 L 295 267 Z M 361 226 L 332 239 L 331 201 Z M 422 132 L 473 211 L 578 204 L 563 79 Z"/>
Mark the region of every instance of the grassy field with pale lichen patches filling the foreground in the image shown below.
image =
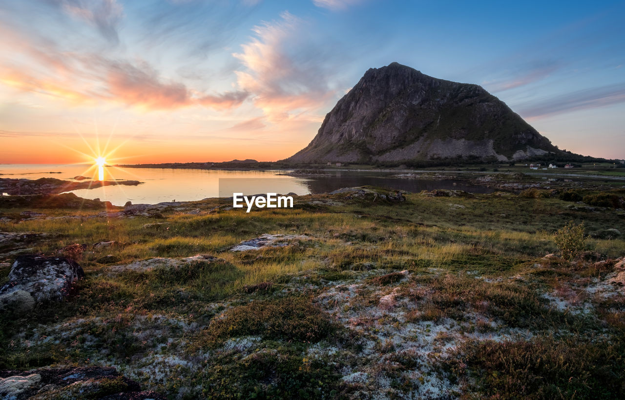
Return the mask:
<path id="1" fill-rule="evenodd" d="M 86 279 L 0 316 L 0 368 L 115 366 L 171 398 L 622 396 L 624 209 L 374 191 L 249 214 L 217 199 L 153 217 L 1 210 L 0 231 L 46 233 L 28 248 Z M 572 260 L 554 242 L 569 221 L 584 229 Z M 262 234 L 284 246 L 230 251 Z M 197 254 L 216 258 L 183 259 Z"/>

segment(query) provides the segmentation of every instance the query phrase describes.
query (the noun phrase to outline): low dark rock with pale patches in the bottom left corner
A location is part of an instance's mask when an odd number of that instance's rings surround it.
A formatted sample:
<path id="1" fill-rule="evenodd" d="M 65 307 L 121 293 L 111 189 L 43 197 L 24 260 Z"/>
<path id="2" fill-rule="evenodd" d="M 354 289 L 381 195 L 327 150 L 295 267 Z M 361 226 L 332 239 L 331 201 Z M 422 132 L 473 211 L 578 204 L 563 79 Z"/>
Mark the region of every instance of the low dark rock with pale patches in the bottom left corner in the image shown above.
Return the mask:
<path id="1" fill-rule="evenodd" d="M 165 399 L 121 376 L 114 367 L 0 371 L 2 399 Z"/>

